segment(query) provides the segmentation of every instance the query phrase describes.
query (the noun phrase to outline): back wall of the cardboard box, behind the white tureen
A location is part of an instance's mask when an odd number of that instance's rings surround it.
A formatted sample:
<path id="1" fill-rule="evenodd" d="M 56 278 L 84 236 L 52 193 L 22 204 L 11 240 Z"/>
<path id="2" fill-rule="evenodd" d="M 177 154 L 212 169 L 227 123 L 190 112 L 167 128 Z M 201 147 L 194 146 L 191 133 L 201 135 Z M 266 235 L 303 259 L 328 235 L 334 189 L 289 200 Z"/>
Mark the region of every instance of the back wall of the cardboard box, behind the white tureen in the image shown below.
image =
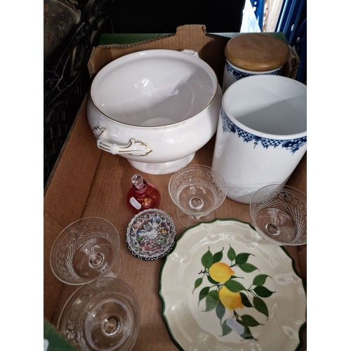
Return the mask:
<path id="1" fill-rule="evenodd" d="M 95 48 L 88 62 L 91 77 L 112 60 L 128 53 L 150 49 L 168 49 L 182 51 L 190 49 L 197 51 L 199 57 L 208 63 L 216 72 L 218 81 L 222 81 L 225 65 L 224 48 L 230 38 L 206 34 L 204 25 L 183 25 L 177 27 L 176 34 L 165 35 L 156 39 L 140 41 L 128 45 L 103 45 Z"/>

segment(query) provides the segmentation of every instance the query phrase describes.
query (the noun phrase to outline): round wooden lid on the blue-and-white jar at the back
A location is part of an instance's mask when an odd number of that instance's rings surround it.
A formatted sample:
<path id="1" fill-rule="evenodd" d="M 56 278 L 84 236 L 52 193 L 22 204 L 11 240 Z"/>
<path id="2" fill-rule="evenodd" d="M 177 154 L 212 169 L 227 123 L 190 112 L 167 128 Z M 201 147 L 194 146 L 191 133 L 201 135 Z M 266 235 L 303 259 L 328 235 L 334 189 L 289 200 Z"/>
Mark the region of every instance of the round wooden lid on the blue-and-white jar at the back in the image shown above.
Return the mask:
<path id="1" fill-rule="evenodd" d="M 225 46 L 225 57 L 232 65 L 253 72 L 282 67 L 289 56 L 289 46 L 270 34 L 239 34 Z"/>

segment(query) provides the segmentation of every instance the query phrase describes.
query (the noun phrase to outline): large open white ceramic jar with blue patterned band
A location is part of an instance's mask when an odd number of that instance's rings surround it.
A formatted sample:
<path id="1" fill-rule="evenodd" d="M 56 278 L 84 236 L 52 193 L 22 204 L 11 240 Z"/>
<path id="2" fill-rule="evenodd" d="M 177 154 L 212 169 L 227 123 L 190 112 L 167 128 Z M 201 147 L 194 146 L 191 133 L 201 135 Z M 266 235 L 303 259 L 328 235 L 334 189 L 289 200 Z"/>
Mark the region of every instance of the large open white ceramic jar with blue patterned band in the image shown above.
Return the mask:
<path id="1" fill-rule="evenodd" d="M 307 148 L 307 88 L 281 76 L 236 81 L 223 94 L 212 168 L 227 197 L 249 204 L 266 185 L 285 184 Z"/>

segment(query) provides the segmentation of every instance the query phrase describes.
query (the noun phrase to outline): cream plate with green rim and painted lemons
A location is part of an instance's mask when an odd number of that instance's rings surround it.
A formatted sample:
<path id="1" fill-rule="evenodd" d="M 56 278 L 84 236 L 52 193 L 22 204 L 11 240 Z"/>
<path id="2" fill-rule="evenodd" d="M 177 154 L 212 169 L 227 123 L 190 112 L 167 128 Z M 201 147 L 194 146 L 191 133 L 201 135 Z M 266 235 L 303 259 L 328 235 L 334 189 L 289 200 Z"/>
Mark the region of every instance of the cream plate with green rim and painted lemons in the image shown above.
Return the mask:
<path id="1" fill-rule="evenodd" d="M 288 351 L 302 345 L 306 293 L 293 260 L 249 223 L 190 227 L 161 267 L 162 316 L 180 350 Z"/>

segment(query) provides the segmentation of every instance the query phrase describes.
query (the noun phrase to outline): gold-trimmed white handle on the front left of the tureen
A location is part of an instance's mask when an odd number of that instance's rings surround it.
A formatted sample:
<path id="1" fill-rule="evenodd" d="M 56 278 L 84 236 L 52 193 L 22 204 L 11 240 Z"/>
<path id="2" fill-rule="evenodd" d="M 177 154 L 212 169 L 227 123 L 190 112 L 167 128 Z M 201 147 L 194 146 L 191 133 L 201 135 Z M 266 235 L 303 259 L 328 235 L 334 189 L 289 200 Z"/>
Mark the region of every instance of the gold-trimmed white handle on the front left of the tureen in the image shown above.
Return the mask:
<path id="1" fill-rule="evenodd" d="M 134 138 L 129 140 L 128 145 L 117 145 L 113 143 L 109 143 L 105 140 L 106 128 L 96 126 L 93 128 L 93 133 L 97 138 L 96 144 L 98 148 L 101 150 L 105 150 L 110 152 L 111 154 L 129 154 L 133 156 L 146 156 L 150 152 L 152 152 L 152 148 L 143 143 L 142 141 L 136 141 Z"/>

